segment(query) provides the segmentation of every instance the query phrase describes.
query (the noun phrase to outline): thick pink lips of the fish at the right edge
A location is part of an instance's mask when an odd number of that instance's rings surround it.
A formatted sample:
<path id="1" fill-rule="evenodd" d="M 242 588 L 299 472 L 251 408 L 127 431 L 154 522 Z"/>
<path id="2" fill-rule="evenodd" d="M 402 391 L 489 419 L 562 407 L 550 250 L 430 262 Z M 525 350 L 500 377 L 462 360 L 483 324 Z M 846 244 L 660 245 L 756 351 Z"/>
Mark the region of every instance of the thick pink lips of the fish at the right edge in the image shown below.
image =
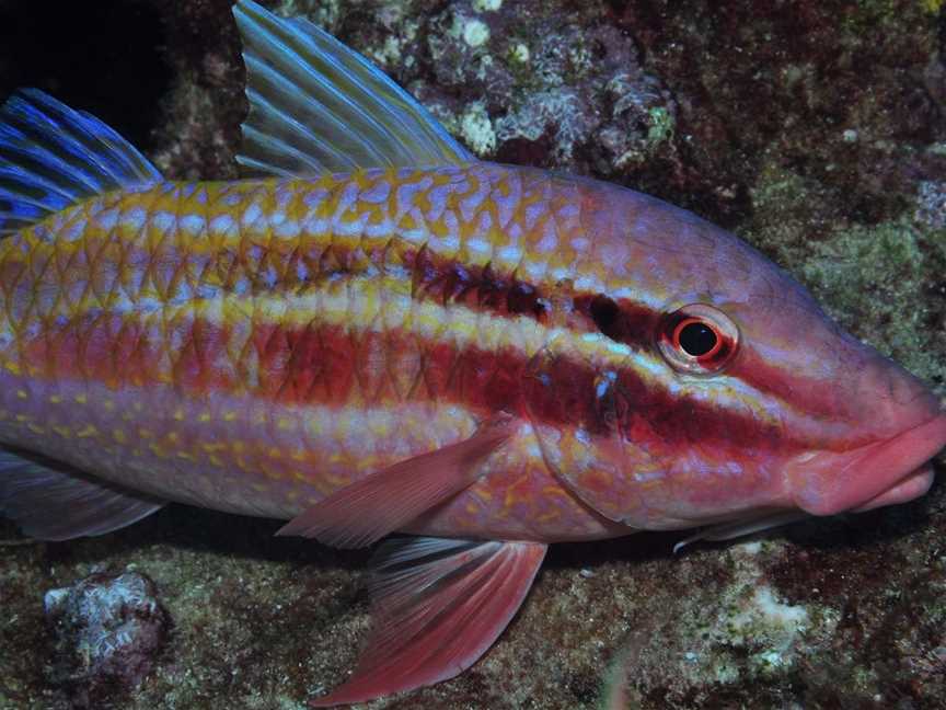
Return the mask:
<path id="1" fill-rule="evenodd" d="M 812 515 L 907 503 L 933 484 L 928 463 L 946 446 L 946 412 L 892 438 L 847 451 L 806 453 L 787 468 L 798 507 Z"/>

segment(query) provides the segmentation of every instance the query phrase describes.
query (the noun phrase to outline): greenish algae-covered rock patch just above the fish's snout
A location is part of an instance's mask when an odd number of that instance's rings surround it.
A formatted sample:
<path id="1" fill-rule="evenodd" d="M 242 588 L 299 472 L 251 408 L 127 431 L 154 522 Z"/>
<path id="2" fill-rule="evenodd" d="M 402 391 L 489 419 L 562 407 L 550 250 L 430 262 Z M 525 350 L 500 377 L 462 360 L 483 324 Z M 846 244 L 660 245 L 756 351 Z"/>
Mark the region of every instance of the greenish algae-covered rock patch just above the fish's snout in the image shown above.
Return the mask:
<path id="1" fill-rule="evenodd" d="M 808 286 L 842 327 L 946 394 L 946 230 L 904 210 L 832 225 L 829 198 L 785 171 L 763 173 L 743 236 Z M 814 233 L 812 233 L 814 232 Z"/>

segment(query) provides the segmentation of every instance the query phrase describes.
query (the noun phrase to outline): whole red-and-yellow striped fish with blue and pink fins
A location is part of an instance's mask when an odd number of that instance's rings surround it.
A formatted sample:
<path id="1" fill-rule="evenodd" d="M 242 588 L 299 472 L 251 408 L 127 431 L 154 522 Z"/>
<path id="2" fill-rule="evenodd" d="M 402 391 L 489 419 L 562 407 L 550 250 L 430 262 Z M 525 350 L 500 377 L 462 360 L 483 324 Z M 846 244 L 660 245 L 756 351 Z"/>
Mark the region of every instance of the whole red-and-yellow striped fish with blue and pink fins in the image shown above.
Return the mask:
<path id="1" fill-rule="evenodd" d="M 481 161 L 315 25 L 233 14 L 241 180 L 165 180 L 37 90 L 0 107 L 0 512 L 25 535 L 176 502 L 378 543 L 327 707 L 470 667 L 551 543 L 928 490 L 939 400 L 750 245 Z"/>

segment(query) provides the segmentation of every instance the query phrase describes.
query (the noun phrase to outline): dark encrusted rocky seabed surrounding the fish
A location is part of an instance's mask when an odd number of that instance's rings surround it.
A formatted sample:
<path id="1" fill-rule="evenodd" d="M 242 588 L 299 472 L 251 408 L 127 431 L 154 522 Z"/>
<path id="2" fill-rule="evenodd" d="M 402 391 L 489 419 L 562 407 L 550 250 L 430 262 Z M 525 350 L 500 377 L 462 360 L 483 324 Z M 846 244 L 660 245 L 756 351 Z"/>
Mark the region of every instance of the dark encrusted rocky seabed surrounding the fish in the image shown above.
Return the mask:
<path id="1" fill-rule="evenodd" d="M 483 158 L 735 230 L 946 394 L 941 0 L 265 4 L 366 54 Z M 36 85 L 91 111 L 168 176 L 232 179 L 246 106 L 229 5 L 0 1 L 0 93 Z M 169 506 L 36 543 L 0 523 L 0 708 L 304 708 L 353 667 L 368 552 L 277 527 Z M 484 660 L 370 707 L 946 708 L 942 483 L 674 557 L 679 537 L 553 547 Z M 76 628 L 69 610 L 90 605 L 120 618 Z M 103 643 L 118 655 L 95 665 Z"/>

